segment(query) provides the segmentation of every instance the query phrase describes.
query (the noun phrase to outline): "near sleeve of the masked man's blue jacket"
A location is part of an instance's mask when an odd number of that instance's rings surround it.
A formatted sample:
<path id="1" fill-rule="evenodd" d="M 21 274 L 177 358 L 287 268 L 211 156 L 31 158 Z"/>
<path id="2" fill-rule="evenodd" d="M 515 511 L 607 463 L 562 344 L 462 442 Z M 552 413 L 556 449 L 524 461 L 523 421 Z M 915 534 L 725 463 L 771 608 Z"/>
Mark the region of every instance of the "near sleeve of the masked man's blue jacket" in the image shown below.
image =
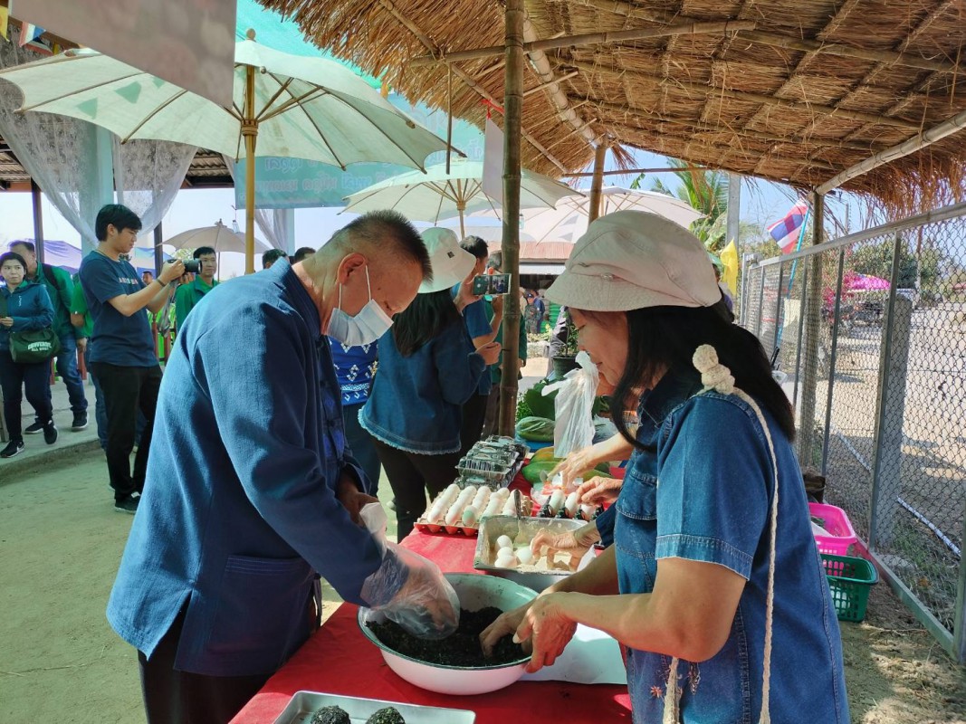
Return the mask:
<path id="1" fill-rule="evenodd" d="M 340 596 L 361 602 L 362 584 L 380 568 L 382 553 L 335 497 L 340 467 L 305 444 L 305 401 L 318 394 L 307 373 L 313 343 L 302 344 L 292 316 L 275 308 L 244 308 L 235 323 L 244 335 L 203 333 L 190 356 L 241 486 Z"/>

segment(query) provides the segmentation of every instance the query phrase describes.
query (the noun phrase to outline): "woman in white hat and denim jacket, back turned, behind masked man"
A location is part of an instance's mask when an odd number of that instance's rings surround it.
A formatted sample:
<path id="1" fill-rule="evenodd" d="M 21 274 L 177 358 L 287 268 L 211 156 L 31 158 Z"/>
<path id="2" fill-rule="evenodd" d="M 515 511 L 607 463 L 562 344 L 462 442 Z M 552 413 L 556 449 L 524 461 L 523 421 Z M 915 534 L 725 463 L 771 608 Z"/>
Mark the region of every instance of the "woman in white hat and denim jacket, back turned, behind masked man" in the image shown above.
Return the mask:
<path id="1" fill-rule="evenodd" d="M 427 229 L 422 237 L 433 280 L 380 339 L 379 372 L 359 412 L 392 487 L 400 541 L 425 509 L 427 490 L 433 497 L 456 478 L 461 408 L 499 355 L 494 342 L 473 348 L 461 316 L 474 300 L 464 292 L 476 260 L 449 229 Z M 454 299 L 450 288 L 468 279 Z"/>

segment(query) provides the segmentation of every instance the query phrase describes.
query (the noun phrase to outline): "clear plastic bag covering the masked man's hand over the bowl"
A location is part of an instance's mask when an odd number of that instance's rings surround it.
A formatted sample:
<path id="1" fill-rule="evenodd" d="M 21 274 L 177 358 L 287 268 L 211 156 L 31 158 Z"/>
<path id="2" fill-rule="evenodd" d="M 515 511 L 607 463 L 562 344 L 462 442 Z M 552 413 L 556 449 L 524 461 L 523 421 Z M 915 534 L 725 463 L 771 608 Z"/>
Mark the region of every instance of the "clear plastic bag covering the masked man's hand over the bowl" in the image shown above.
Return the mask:
<path id="1" fill-rule="evenodd" d="M 460 601 L 440 567 L 386 540 L 385 511 L 379 503 L 363 507 L 359 517 L 383 549 L 383 566 L 362 586 L 362 598 L 370 604 L 363 609 L 363 620 L 389 619 L 421 638 L 453 633 L 460 624 Z"/>

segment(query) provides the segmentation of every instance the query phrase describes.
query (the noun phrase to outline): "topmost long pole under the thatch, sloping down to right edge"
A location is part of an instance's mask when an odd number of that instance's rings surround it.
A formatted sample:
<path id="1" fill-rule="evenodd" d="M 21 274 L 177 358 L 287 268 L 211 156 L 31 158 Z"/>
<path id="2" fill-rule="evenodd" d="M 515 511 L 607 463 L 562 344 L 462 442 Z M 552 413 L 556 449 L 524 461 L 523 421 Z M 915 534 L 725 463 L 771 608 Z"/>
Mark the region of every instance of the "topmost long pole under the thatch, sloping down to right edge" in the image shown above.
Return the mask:
<path id="1" fill-rule="evenodd" d="M 618 14 L 624 17 L 634 17 L 642 20 L 647 20 L 648 22 L 660 22 L 660 23 L 672 23 L 681 22 L 682 20 L 689 19 L 706 19 L 706 18 L 696 18 L 689 15 L 667 13 L 663 11 L 648 10 L 644 5 L 637 5 L 628 2 L 622 2 L 621 0 L 571 0 L 575 4 L 581 4 L 585 7 L 595 8 L 596 10 L 604 11 L 605 13 Z M 955 2 L 956 0 L 952 0 Z M 823 53 L 828 53 L 829 55 L 838 55 L 843 58 L 854 58 L 856 60 L 865 60 L 872 63 L 888 63 L 895 66 L 903 66 L 905 68 L 918 68 L 921 70 L 941 70 L 943 72 L 950 73 L 960 73 L 966 70 L 966 67 L 960 66 L 958 63 L 951 63 L 949 61 L 939 61 L 932 60 L 929 58 L 923 58 L 920 55 L 913 55 L 910 53 L 896 53 L 890 50 L 870 50 L 867 48 L 856 47 L 854 45 L 846 45 L 842 42 L 832 42 L 824 43 L 818 41 L 810 41 L 805 39 L 793 38 L 790 36 L 782 36 L 776 33 L 768 33 L 760 30 L 743 30 L 738 33 L 739 38 L 743 38 L 747 41 L 758 42 L 762 45 L 771 45 L 773 47 L 781 47 L 786 50 L 798 50 L 801 52 L 815 52 L 821 51 Z"/>

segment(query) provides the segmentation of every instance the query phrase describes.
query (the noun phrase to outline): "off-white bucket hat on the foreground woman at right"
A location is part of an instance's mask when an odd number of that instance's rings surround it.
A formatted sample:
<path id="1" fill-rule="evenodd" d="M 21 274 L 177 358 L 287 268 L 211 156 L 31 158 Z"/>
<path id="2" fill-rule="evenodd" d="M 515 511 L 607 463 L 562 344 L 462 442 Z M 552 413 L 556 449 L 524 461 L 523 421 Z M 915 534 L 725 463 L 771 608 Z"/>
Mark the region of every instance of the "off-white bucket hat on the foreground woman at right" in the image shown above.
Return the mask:
<path id="1" fill-rule="evenodd" d="M 704 245 L 656 213 L 601 216 L 574 245 L 547 298 L 588 312 L 710 307 L 722 292 Z"/>

